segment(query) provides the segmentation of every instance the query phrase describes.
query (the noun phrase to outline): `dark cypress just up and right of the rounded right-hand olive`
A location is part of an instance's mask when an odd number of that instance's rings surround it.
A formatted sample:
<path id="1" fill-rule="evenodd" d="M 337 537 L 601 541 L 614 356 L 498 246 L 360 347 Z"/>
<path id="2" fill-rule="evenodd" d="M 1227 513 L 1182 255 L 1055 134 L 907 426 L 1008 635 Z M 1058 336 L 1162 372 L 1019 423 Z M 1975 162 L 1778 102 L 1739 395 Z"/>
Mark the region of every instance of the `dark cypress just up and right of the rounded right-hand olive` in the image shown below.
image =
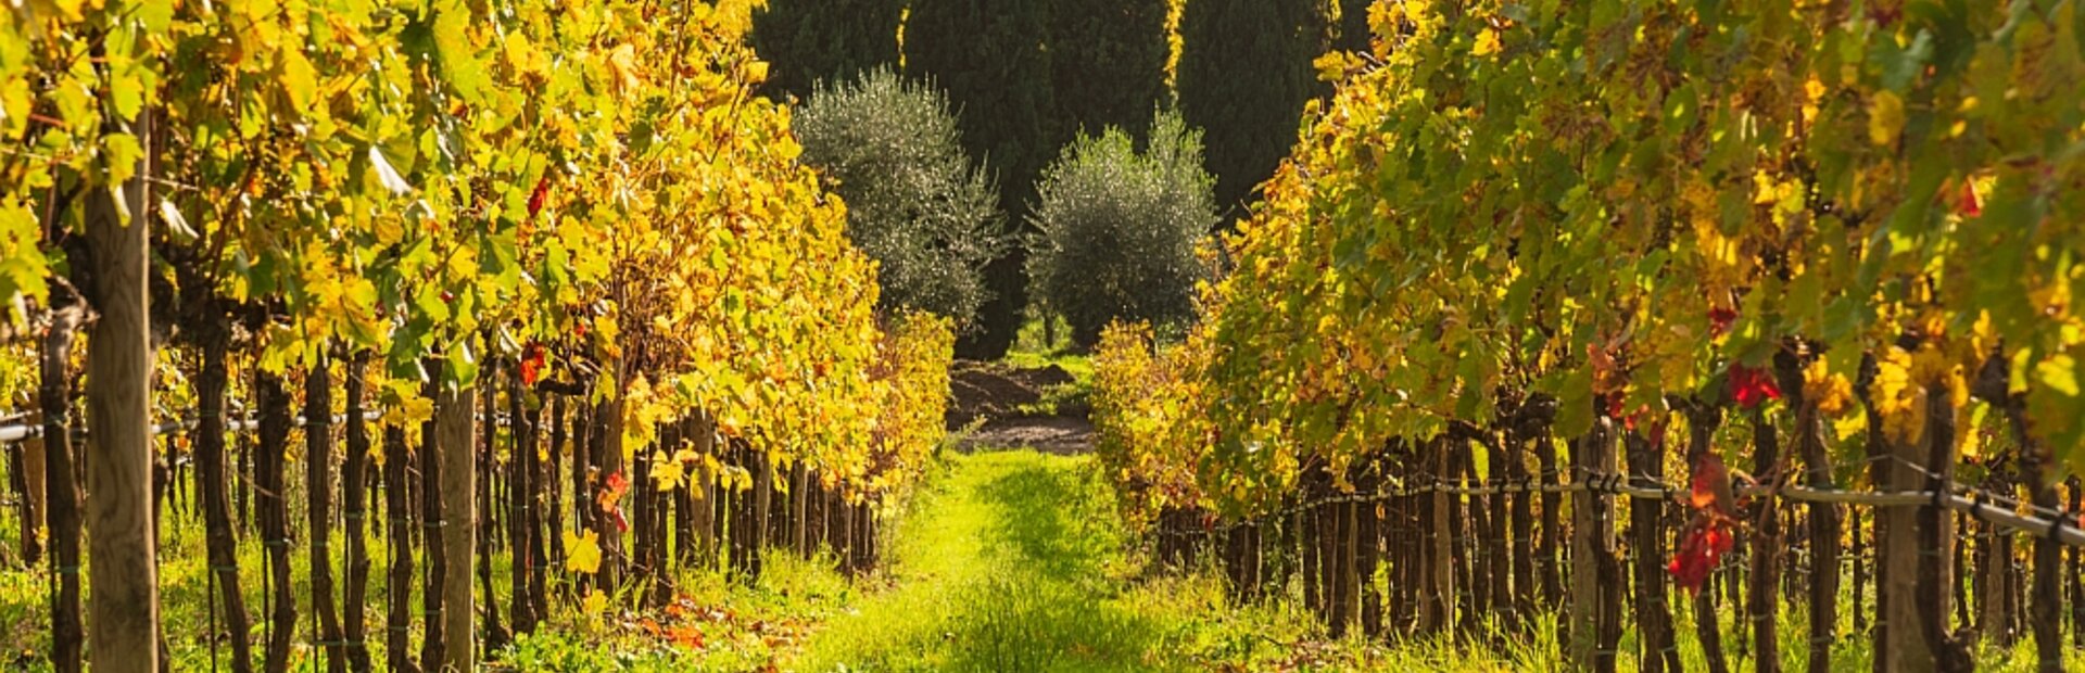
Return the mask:
<path id="1" fill-rule="evenodd" d="M 1297 140 L 1303 104 L 1326 92 L 1324 0 L 1193 0 L 1180 15 L 1180 115 L 1207 133 L 1216 204 L 1245 213 Z"/>

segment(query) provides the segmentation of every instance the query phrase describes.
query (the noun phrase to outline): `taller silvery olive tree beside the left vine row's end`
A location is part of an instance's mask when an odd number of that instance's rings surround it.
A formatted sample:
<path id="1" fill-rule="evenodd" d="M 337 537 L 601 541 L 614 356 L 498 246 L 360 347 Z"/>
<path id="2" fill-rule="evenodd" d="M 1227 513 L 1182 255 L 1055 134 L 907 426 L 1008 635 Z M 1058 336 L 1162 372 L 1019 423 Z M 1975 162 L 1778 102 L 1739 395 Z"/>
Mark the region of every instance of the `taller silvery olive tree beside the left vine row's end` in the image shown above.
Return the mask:
<path id="1" fill-rule="evenodd" d="M 796 110 L 803 163 L 847 200 L 847 233 L 878 260 L 878 308 L 974 325 L 984 265 L 1011 246 L 999 192 L 963 154 L 932 85 L 890 69 L 819 83 Z"/>

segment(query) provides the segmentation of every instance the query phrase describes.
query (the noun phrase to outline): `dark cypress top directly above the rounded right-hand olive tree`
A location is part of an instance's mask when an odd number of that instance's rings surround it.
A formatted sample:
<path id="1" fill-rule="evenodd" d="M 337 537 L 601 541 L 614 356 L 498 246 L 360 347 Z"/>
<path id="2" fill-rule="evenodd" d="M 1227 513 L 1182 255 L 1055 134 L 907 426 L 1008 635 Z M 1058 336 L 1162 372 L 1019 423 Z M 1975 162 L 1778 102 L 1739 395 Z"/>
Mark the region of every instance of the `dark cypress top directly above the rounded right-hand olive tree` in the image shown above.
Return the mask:
<path id="1" fill-rule="evenodd" d="M 1143 138 L 1166 96 L 1166 0 L 1055 0 L 1049 56 L 1068 133 Z"/>

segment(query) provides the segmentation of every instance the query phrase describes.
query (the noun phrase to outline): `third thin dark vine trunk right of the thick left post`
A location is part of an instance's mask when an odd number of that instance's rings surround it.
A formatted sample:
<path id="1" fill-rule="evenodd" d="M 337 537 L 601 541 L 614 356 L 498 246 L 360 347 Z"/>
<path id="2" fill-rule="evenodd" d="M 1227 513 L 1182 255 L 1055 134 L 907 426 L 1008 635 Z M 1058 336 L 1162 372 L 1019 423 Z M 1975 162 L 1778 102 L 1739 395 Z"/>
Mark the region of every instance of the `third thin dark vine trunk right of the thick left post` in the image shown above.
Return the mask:
<path id="1" fill-rule="evenodd" d="M 311 610 L 319 619 L 319 644 L 325 648 L 325 669 L 348 669 L 340 638 L 340 613 L 334 608 L 334 377 L 327 358 L 319 356 L 304 373 L 304 492 L 306 525 L 311 527 Z M 352 488 L 350 488 L 352 490 Z"/>

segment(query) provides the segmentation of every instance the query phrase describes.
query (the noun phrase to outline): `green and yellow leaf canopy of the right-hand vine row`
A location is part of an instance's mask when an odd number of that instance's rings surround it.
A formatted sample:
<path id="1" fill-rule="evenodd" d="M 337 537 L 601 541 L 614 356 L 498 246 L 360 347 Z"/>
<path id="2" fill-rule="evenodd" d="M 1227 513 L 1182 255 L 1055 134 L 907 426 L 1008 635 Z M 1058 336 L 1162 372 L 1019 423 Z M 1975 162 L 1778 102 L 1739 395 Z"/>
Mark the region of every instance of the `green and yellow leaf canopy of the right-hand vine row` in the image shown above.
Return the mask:
<path id="1" fill-rule="evenodd" d="M 1353 63 L 1376 65 L 1311 108 L 1178 365 L 1213 421 L 1213 504 L 1532 396 L 1557 438 L 1772 404 L 1776 356 L 1841 435 L 1866 398 L 1893 442 L 1929 396 L 1985 404 L 2004 365 L 2031 438 L 2085 467 L 2077 2 L 1378 2 L 1370 23 Z"/>

